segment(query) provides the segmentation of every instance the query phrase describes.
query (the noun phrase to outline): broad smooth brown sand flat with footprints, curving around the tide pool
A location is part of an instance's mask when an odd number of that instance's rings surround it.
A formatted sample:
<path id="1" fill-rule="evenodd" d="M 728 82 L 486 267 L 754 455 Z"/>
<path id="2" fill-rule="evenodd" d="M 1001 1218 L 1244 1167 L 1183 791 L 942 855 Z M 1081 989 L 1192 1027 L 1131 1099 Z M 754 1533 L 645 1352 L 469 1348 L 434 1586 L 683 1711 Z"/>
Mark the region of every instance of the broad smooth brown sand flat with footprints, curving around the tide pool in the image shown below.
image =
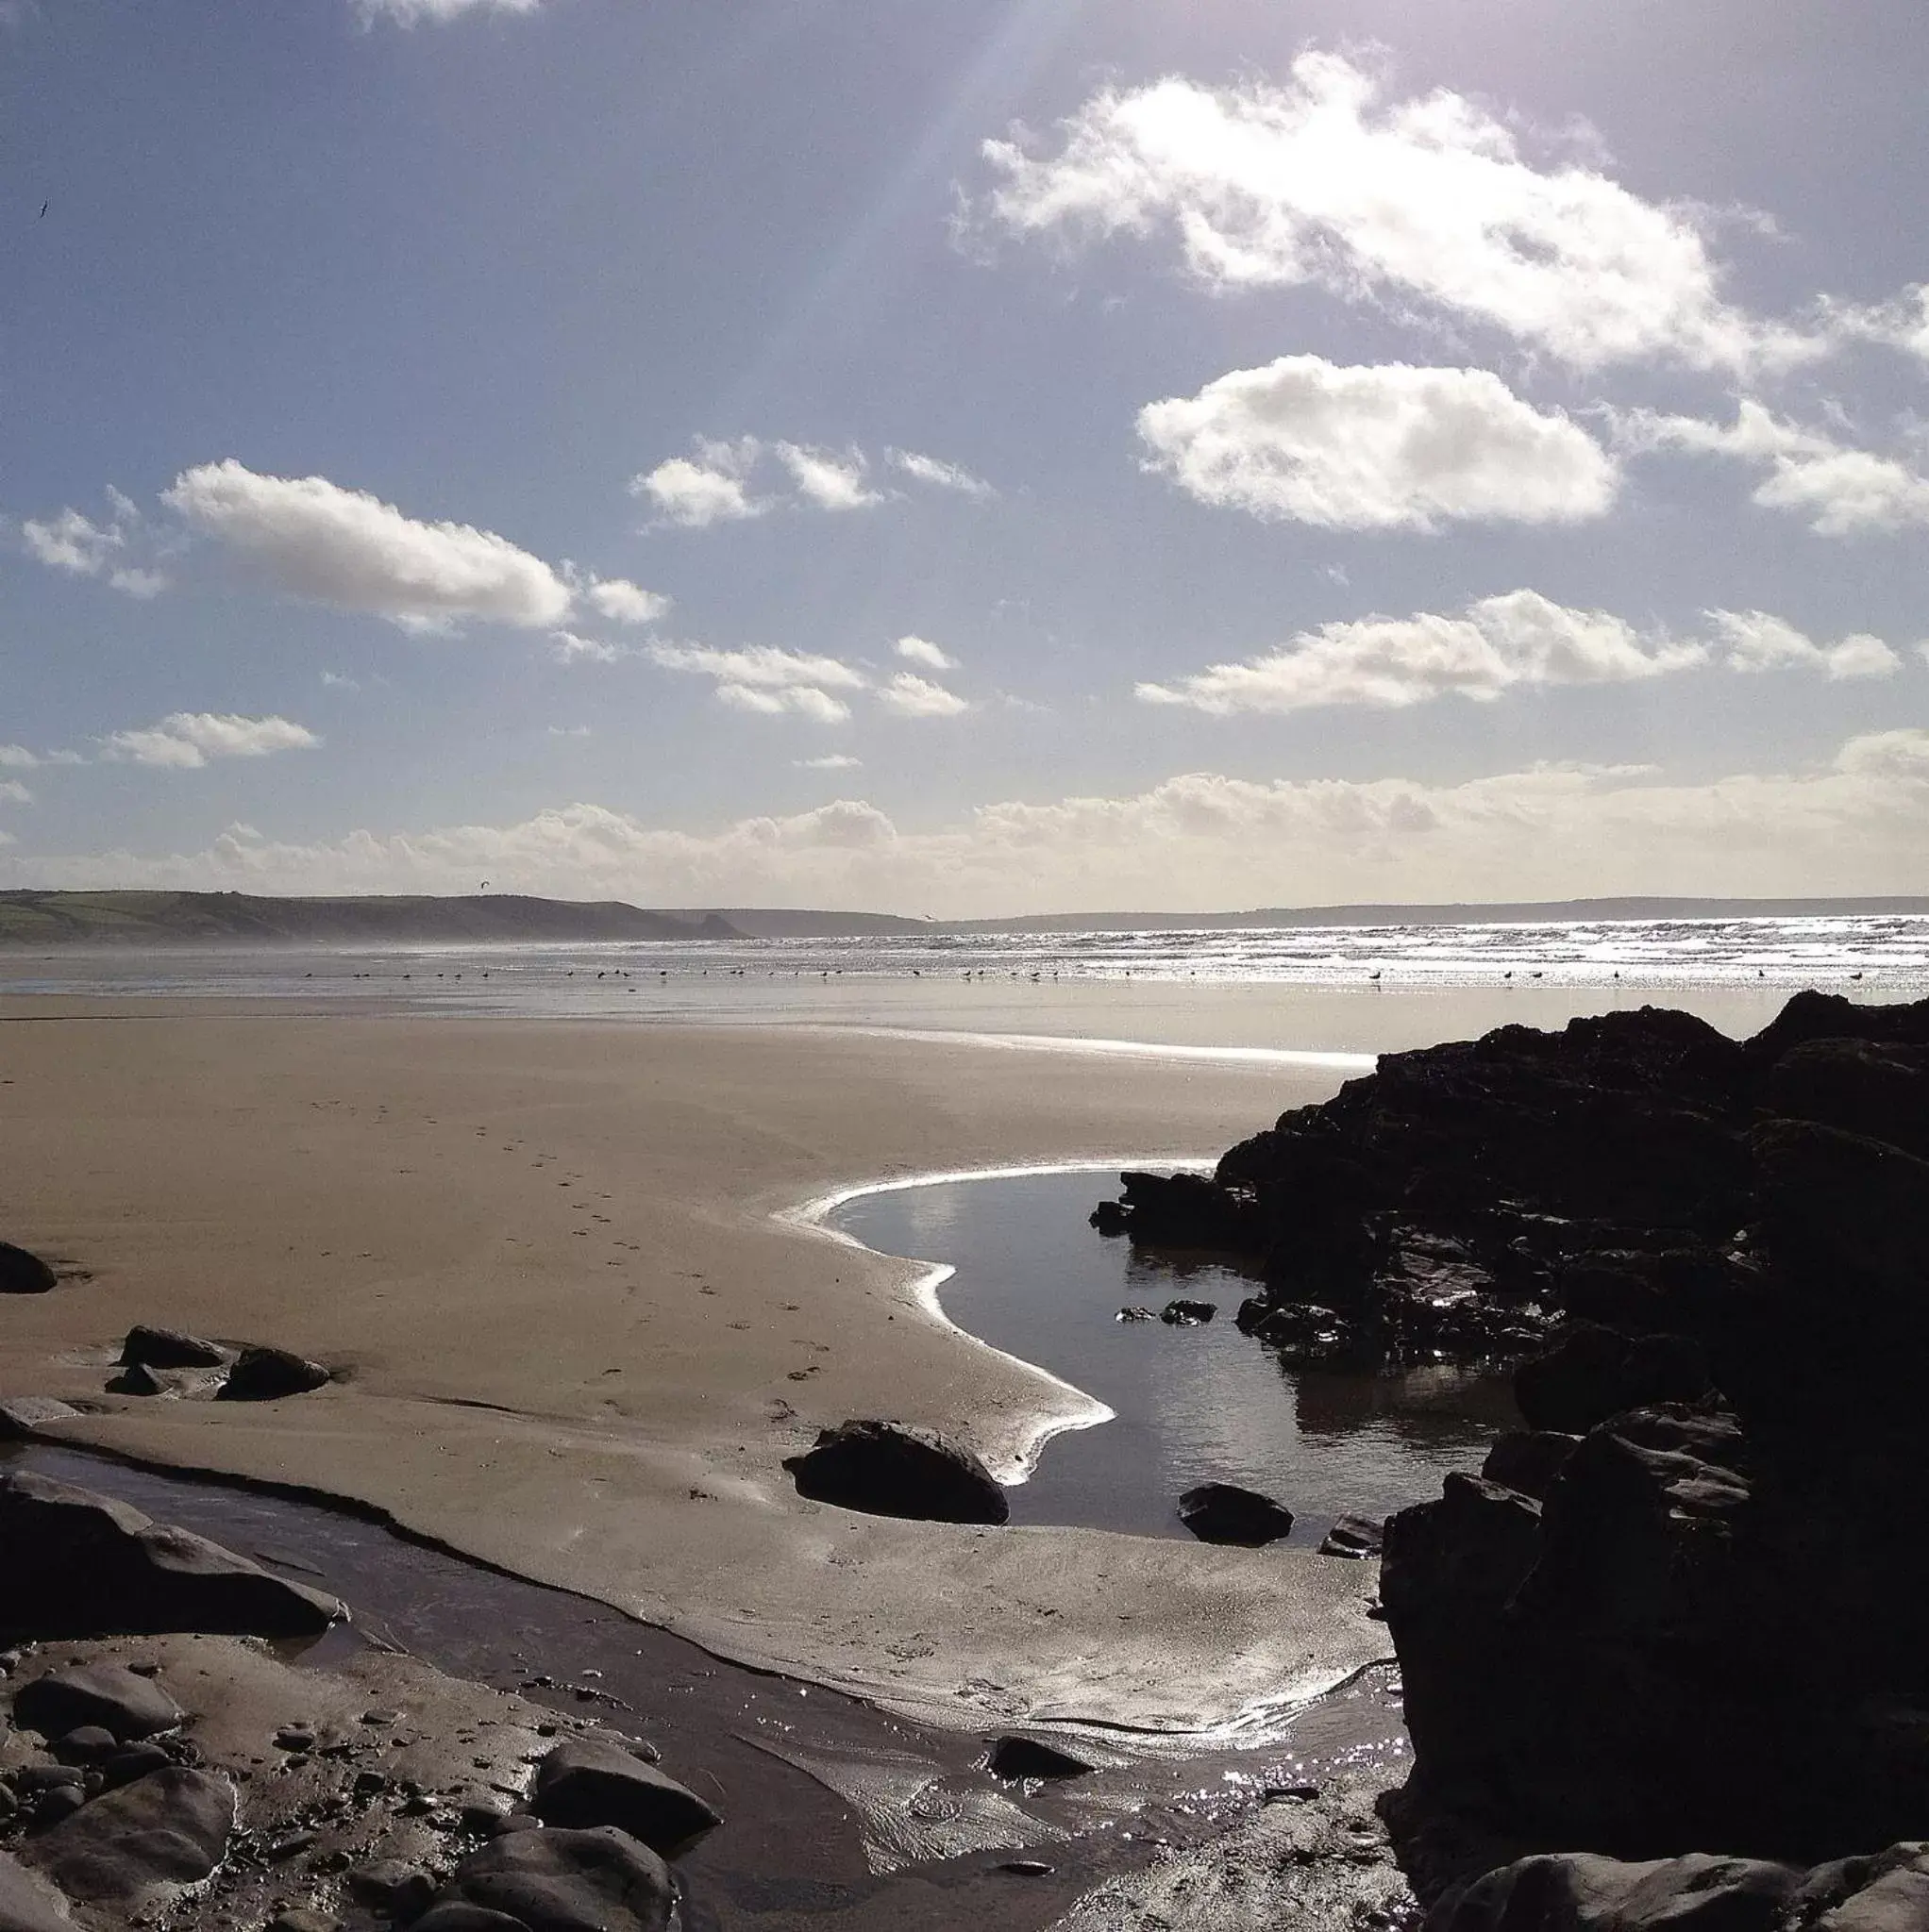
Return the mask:
<path id="1" fill-rule="evenodd" d="M 802 1028 L 0 1009 L 0 1393 L 73 1441 L 300 1484 L 926 1719 L 1191 1729 L 1384 1656 L 1370 1571 L 800 1501 L 781 1459 L 885 1414 L 1011 1470 L 1084 1412 L 920 1269 L 787 1209 L 1028 1161 L 1212 1155 L 1332 1070 Z M 941 1258 L 939 1258 L 941 1260 Z M 135 1321 L 338 1372 L 274 1405 L 102 1397 Z"/>

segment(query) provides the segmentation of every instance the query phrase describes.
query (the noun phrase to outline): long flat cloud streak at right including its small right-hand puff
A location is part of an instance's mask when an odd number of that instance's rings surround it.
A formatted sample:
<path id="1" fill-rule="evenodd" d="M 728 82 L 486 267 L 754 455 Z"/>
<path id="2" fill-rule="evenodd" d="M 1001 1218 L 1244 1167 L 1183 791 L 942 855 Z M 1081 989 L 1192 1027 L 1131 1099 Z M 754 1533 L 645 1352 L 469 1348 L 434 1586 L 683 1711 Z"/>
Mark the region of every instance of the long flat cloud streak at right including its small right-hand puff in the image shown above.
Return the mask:
<path id="1" fill-rule="evenodd" d="M 1881 638 L 1815 643 L 1765 611 L 1709 611 L 1707 618 L 1711 638 L 1674 638 L 1637 630 L 1608 611 L 1573 611 L 1539 591 L 1510 591 L 1452 616 L 1322 624 L 1262 657 L 1210 665 L 1171 684 L 1140 684 L 1137 696 L 1231 717 L 1320 705 L 1403 709 L 1452 694 L 1490 701 L 1519 688 L 1631 684 L 1711 663 L 1736 672 L 1805 668 L 1834 680 L 1902 668 Z"/>

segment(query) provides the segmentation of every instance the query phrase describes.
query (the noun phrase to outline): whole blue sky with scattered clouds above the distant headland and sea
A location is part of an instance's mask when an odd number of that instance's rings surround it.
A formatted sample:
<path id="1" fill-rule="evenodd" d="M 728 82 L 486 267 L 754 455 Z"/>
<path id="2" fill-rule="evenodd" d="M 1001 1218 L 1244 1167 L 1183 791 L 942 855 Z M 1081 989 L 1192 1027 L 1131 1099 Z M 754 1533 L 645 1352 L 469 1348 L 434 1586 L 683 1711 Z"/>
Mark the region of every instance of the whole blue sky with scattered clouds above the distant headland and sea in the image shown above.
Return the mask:
<path id="1" fill-rule="evenodd" d="M 0 887 L 1929 893 L 1917 0 L 0 0 Z"/>

